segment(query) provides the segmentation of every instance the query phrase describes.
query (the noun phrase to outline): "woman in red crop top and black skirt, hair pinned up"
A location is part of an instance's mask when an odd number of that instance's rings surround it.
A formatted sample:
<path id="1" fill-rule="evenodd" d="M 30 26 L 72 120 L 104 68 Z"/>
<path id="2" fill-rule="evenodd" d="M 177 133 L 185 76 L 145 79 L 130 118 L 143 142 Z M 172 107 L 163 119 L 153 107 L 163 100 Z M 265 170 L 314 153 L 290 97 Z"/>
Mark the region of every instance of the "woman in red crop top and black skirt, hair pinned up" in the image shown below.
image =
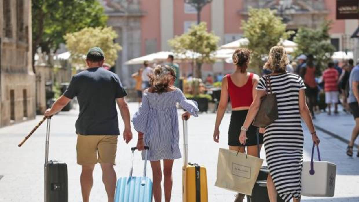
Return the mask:
<path id="1" fill-rule="evenodd" d="M 248 109 L 255 97 L 256 86 L 259 81 L 258 75 L 247 72 L 247 66 L 251 58 L 250 54 L 251 52 L 246 48 L 237 49 L 233 53 L 233 63 L 236 65 L 236 70 L 232 74 L 223 77 L 213 139 L 215 142 L 219 142 L 219 126 L 227 109 L 228 98 L 230 98 L 232 114 L 230 116 L 228 131 L 229 149 L 244 152 L 244 146 L 246 146 L 249 155 L 257 156 L 257 127 L 248 127 L 247 134 L 251 135 L 247 136 L 248 140 L 245 145 L 241 144 L 238 140 Z M 262 130 L 260 132 L 262 132 Z M 259 137 L 261 147 L 263 144 L 263 135 L 261 134 Z M 234 201 L 242 202 L 243 198 L 244 194 L 237 194 Z"/>

